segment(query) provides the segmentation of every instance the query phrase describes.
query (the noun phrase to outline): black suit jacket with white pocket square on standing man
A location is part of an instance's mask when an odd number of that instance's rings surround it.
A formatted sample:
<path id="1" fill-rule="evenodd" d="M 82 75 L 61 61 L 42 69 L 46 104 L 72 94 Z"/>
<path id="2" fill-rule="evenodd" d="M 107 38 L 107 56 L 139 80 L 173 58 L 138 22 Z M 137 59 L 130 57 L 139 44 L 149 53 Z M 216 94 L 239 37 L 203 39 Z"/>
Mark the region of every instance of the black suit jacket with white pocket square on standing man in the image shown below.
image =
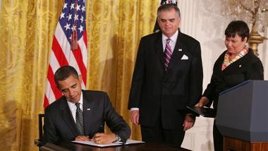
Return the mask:
<path id="1" fill-rule="evenodd" d="M 202 95 L 202 78 L 200 43 L 193 37 L 178 32 L 167 71 L 162 32 L 142 37 L 128 108 L 140 109 L 142 126 L 154 126 L 159 115 L 164 128 L 182 126 L 186 106 L 193 106 Z"/>

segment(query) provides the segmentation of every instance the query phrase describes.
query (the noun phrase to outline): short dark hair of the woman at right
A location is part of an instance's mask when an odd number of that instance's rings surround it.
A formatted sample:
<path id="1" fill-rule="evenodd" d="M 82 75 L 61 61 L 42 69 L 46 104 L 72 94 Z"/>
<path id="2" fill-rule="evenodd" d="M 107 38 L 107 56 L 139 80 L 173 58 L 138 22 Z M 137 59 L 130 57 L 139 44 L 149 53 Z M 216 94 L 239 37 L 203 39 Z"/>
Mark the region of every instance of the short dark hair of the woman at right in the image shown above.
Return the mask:
<path id="1" fill-rule="evenodd" d="M 250 29 L 243 20 L 233 20 L 225 30 L 226 37 L 235 37 L 236 34 L 239 35 L 242 40 L 244 40 L 245 37 L 250 37 Z"/>

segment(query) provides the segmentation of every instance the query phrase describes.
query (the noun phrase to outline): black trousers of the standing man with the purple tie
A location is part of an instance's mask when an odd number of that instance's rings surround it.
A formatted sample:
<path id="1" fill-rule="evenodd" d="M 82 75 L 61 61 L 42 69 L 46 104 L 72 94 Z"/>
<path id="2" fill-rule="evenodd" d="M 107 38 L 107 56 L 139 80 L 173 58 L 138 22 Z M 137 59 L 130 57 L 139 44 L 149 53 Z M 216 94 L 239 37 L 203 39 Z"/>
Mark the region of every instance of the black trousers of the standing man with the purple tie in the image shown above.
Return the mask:
<path id="1" fill-rule="evenodd" d="M 173 147 L 181 147 L 185 131 L 183 126 L 178 126 L 175 129 L 165 129 L 162 122 L 158 119 L 154 127 L 141 125 L 142 141 L 144 142 L 159 142 L 171 145 Z"/>

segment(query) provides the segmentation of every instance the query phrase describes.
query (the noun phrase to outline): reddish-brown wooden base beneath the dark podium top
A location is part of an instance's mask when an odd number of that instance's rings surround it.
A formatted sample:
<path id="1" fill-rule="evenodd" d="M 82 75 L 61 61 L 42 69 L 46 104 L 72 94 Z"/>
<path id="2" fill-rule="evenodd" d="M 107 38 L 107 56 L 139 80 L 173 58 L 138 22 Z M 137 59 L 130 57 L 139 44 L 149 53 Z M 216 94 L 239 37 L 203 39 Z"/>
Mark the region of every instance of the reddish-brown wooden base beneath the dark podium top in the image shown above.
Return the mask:
<path id="1" fill-rule="evenodd" d="M 224 136 L 224 151 L 267 151 L 267 142 L 248 142 Z"/>

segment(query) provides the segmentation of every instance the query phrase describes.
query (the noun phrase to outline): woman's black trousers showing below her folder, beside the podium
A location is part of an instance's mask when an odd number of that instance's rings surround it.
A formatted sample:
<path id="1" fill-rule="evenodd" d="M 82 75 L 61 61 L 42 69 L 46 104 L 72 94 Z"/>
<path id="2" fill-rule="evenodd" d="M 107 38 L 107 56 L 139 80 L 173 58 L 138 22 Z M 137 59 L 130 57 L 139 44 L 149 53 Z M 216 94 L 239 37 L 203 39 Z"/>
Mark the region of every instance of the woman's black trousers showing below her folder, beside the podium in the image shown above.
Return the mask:
<path id="1" fill-rule="evenodd" d="M 219 133 L 219 129 L 215 124 L 215 120 L 213 123 L 213 140 L 214 140 L 214 150 L 215 151 L 223 151 L 224 150 L 224 136 Z"/>

